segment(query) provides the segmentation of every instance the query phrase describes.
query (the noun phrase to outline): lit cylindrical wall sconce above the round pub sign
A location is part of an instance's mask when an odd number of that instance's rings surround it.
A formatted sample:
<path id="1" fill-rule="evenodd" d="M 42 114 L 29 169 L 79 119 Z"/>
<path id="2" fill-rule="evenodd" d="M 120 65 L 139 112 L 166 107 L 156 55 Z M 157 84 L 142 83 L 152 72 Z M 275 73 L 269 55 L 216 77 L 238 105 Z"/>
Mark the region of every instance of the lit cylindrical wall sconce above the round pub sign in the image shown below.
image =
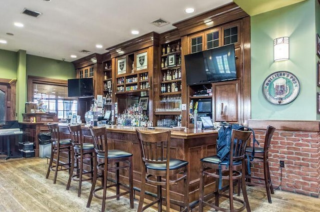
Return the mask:
<path id="1" fill-rule="evenodd" d="M 278 37 L 273 40 L 274 61 L 289 59 L 289 37 Z"/>

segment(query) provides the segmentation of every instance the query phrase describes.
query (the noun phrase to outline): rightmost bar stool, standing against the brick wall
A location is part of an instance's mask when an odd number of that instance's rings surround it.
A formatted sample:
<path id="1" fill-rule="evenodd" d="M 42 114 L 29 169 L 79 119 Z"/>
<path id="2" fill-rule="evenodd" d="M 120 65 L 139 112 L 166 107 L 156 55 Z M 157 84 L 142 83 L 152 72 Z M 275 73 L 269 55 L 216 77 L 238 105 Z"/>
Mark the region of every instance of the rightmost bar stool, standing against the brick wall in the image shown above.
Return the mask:
<path id="1" fill-rule="evenodd" d="M 267 126 L 266 131 L 265 131 L 265 137 L 264 137 L 264 146 L 263 146 L 263 148 L 254 147 L 254 157 L 252 158 L 253 160 L 252 161 L 250 160 L 250 162 L 249 162 L 249 163 L 253 163 L 253 164 L 257 164 L 257 163 L 263 164 L 263 177 L 251 176 L 249 174 L 247 174 L 245 176 L 246 185 L 265 187 L 266 196 L 268 198 L 269 203 L 272 203 L 271 202 L 271 194 L 274 194 L 274 191 L 273 191 L 271 177 L 270 177 L 268 154 L 269 154 L 269 147 L 270 147 L 271 138 L 272 138 L 274 131 L 275 131 L 274 127 Z M 247 147 L 245 150 L 245 152 L 250 157 L 252 155 L 252 151 L 253 151 L 253 147 Z M 252 182 L 251 179 L 255 180 L 255 181 Z"/>

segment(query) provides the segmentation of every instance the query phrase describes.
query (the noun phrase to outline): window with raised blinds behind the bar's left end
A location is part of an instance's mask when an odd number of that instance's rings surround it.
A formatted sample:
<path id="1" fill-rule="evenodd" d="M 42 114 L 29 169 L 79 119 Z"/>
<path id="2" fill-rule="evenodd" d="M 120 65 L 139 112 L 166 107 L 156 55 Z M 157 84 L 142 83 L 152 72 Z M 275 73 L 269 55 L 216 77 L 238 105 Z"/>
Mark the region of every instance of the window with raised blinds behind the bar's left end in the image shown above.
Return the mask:
<path id="1" fill-rule="evenodd" d="M 30 79 L 31 78 L 31 79 Z M 58 80 L 37 80 L 28 78 L 28 89 L 31 86 L 31 98 L 28 101 L 37 102 L 38 110 L 56 113 L 58 119 L 67 118 L 69 113 L 77 114 L 77 101 L 68 97 L 67 82 L 54 83 Z M 41 77 L 39 77 L 41 78 Z"/>

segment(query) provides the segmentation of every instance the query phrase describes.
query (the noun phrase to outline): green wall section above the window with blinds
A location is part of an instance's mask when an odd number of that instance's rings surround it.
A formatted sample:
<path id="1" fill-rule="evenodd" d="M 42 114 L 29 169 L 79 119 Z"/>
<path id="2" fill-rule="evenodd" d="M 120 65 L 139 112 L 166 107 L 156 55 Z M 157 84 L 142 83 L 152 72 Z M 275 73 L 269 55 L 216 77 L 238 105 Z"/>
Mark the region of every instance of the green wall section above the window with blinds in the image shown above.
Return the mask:
<path id="1" fill-rule="evenodd" d="M 75 78 L 72 63 L 29 54 L 26 55 L 26 72 L 28 76 L 63 80 Z"/>

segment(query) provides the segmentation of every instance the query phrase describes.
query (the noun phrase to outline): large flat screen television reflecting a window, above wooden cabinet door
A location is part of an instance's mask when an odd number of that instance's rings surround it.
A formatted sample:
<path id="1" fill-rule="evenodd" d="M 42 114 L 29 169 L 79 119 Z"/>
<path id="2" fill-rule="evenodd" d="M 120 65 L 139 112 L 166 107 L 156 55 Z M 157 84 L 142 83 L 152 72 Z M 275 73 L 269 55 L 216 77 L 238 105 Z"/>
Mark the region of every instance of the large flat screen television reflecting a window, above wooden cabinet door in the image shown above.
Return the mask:
<path id="1" fill-rule="evenodd" d="M 236 79 L 234 44 L 184 56 L 187 85 Z"/>

